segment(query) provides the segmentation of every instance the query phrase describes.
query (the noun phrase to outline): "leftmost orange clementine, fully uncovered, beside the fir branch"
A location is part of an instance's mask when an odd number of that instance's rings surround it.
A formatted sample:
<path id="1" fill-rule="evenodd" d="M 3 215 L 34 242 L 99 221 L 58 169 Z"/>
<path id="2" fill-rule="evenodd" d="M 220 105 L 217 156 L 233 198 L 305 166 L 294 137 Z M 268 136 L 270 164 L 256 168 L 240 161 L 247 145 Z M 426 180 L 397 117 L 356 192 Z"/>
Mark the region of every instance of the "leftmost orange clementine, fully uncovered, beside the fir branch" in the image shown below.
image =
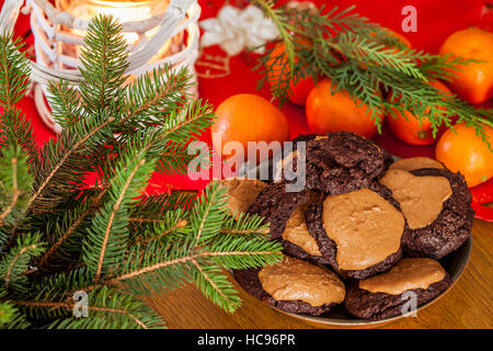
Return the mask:
<path id="1" fill-rule="evenodd" d="M 217 151 L 228 141 L 243 146 L 246 157 L 248 141 L 279 141 L 289 138 L 289 127 L 284 113 L 266 99 L 255 94 L 236 94 L 216 109 L 216 121 L 210 128 Z M 233 152 L 225 152 L 225 157 Z"/>

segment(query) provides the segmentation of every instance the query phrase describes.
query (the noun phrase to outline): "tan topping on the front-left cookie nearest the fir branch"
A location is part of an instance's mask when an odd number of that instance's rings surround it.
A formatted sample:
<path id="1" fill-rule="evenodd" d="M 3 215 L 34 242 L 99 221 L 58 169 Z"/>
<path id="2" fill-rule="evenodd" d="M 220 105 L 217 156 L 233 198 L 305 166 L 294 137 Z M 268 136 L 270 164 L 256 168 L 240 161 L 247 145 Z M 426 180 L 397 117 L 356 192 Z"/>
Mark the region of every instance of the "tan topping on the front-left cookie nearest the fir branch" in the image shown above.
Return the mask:
<path id="1" fill-rule="evenodd" d="M 312 306 L 342 303 L 343 282 L 325 268 L 285 256 L 259 271 L 262 287 L 277 301 L 300 299 Z"/>

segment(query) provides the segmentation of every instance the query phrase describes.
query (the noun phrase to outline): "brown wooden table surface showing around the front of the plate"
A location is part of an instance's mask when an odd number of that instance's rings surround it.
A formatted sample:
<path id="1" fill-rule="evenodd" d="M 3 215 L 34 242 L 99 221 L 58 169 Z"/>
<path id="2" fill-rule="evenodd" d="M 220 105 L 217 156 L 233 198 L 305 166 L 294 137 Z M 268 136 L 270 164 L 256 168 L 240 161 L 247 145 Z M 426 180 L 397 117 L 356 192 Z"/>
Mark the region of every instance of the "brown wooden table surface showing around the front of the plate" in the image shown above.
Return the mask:
<path id="1" fill-rule="evenodd" d="M 493 328 L 493 223 L 474 220 L 471 260 L 459 282 L 443 298 L 381 328 Z M 186 286 L 150 302 L 169 328 L 320 328 L 286 316 L 237 285 L 243 306 L 228 314 Z"/>

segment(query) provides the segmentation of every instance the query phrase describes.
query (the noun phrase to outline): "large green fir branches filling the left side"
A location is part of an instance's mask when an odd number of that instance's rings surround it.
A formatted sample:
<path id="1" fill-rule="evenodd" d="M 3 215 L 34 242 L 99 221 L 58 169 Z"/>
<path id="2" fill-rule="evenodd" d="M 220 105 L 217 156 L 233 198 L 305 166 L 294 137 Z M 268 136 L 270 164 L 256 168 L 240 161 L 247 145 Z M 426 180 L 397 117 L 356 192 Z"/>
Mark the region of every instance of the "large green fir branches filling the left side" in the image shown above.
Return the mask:
<path id="1" fill-rule="evenodd" d="M 0 328 L 160 328 L 144 297 L 185 283 L 233 312 L 225 269 L 280 259 L 262 218 L 227 213 L 219 183 L 200 196 L 144 195 L 154 171 L 186 173 L 187 145 L 214 116 L 188 93 L 186 69 L 131 81 L 119 33 L 111 16 L 92 21 L 83 82 L 49 84 L 62 132 L 42 148 L 15 107 L 28 61 L 0 36 Z"/>

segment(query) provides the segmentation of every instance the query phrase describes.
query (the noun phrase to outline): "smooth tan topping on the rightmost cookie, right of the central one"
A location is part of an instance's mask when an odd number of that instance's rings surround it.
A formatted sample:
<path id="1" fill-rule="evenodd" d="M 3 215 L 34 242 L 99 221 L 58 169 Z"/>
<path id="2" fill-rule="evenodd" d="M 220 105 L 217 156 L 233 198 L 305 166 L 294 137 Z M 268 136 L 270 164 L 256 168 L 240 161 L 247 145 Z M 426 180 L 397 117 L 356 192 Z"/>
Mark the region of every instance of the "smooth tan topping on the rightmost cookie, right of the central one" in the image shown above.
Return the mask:
<path id="1" fill-rule="evenodd" d="M 380 183 L 392 191 L 411 229 L 433 223 L 444 210 L 452 190 L 445 177 L 413 176 L 400 169 L 389 169 Z"/>

